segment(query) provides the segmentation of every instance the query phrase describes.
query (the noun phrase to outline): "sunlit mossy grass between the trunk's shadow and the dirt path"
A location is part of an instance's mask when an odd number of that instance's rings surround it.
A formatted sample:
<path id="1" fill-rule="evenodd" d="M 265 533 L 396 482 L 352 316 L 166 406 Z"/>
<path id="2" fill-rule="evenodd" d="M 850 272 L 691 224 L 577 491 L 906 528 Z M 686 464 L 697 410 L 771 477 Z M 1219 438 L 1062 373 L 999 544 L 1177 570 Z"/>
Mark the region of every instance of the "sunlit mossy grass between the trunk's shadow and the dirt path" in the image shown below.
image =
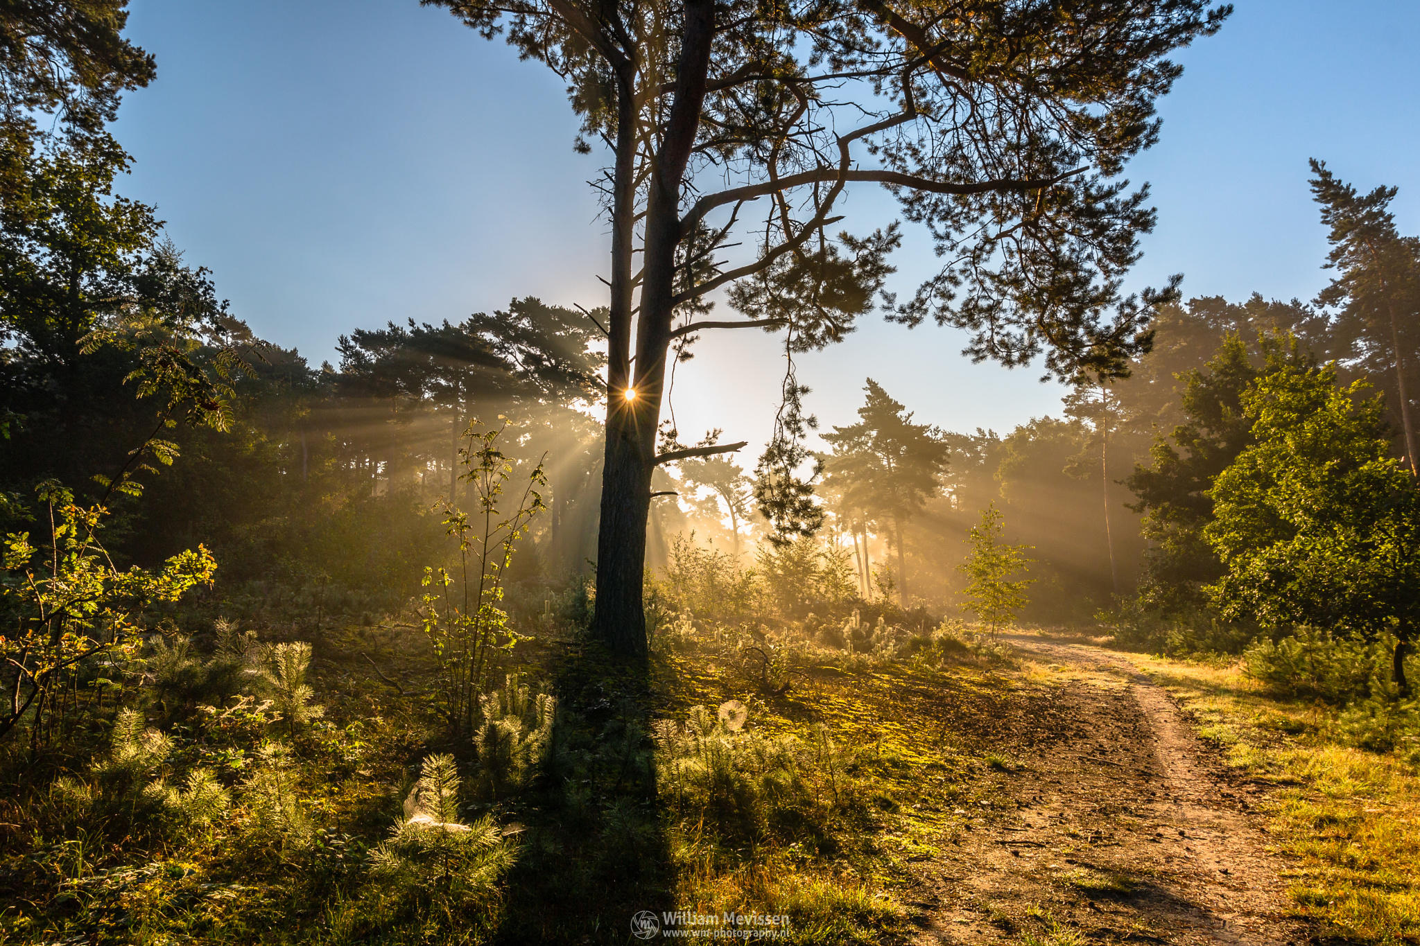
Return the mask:
<path id="1" fill-rule="evenodd" d="M 836 820 L 798 841 L 761 838 L 753 857 L 738 862 L 711 850 L 706 817 L 692 808 L 694 817 L 682 817 L 670 833 L 676 909 L 787 913 L 791 928 L 775 942 L 909 939 L 907 911 L 897 901 L 912 879 L 909 865 L 939 857 L 960 831 L 960 806 L 984 800 L 973 781 L 983 762 L 1018 769 L 1005 756 L 977 757 L 953 745 L 956 733 L 937 716 L 943 692 L 970 701 L 998 694 L 1007 682 L 978 665 L 862 664 L 848 671 L 834 662 L 811 665 L 790 692 L 763 695 L 710 651 L 657 657 L 657 689 L 670 719 L 683 719 L 692 703 L 741 699 L 748 708 L 743 736 L 799 746 L 826 736 L 838 762 L 818 756 L 809 766 L 816 770 L 798 777 L 819 793 L 843 793 Z M 767 804 L 778 814 L 794 808 L 787 793 Z"/>

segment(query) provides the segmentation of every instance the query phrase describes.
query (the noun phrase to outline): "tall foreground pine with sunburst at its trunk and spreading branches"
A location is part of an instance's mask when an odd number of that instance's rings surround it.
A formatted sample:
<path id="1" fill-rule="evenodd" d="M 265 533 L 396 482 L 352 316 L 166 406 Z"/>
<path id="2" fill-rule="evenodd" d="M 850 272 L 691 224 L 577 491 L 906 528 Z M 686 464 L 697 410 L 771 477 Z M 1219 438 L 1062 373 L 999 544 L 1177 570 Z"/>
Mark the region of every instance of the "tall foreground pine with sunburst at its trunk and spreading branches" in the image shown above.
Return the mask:
<path id="1" fill-rule="evenodd" d="M 892 318 L 966 329 L 978 360 L 1044 355 L 1062 377 L 1122 372 L 1172 294 L 1120 298 L 1154 214 L 1119 174 L 1157 140 L 1154 101 L 1180 74 L 1166 57 L 1231 11 L 1204 0 L 425 1 L 484 37 L 507 30 L 567 82 L 578 149 L 592 139 L 611 155 L 596 184 L 611 217 L 611 397 L 595 631 L 628 655 L 646 652 L 646 521 L 652 471 L 667 461 L 656 434 L 672 345 L 737 326 L 785 329 L 790 356 L 841 339 L 873 308 L 900 233 L 835 238 L 831 227 L 849 184 L 880 184 L 947 261 L 910 299 L 885 299 Z M 748 318 L 703 318 L 719 289 Z M 792 496 L 781 445 L 767 452 L 778 475 L 758 479 Z"/>

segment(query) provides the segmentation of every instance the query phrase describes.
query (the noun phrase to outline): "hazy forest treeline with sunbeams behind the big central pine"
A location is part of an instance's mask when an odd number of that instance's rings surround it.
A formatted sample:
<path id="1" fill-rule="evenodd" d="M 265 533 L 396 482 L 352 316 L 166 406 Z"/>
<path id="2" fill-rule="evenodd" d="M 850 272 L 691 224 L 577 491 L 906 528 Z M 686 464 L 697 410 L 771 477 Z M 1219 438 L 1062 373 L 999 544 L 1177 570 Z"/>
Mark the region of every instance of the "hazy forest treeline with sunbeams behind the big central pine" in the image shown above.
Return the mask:
<path id="1" fill-rule="evenodd" d="M 142 489 L 109 498 L 109 547 L 122 560 L 151 564 L 200 542 L 222 563 L 217 597 L 314 586 L 379 610 L 409 594 L 442 535 L 435 501 L 459 501 L 466 424 L 501 416 L 515 431 L 510 454 L 545 458 L 548 477 L 548 515 L 532 529 L 518 580 L 559 584 L 592 567 L 602 312 L 527 296 L 457 323 L 392 319 L 341 336 L 337 363 L 312 366 L 256 338 L 217 302 L 213 277 L 183 264 L 151 208 L 102 197 L 121 167 L 112 156 L 37 160 L 47 163 L 31 173 L 43 167 L 54 191 L 27 204 L 27 231 L 7 230 L 6 532 L 37 521 L 40 484 L 92 501 L 126 471 Z M 47 176 L 61 172 L 74 180 Z M 1360 200 L 1318 173 L 1328 211 Z M 74 194 L 87 196 L 67 203 Z M 78 248 L 104 241 L 122 247 Z M 1397 243 L 1413 254 L 1413 240 Z M 1345 264 L 1314 302 L 1254 295 L 1169 305 L 1127 377 L 1078 386 L 1061 416 L 1007 433 L 917 423 L 868 379 L 858 417 L 822 431 L 819 540 L 848 556 L 862 597 L 953 610 L 967 533 L 994 502 L 1011 540 L 1031 547 L 1028 618 L 1081 623 L 1120 606 L 1203 614 L 1201 589 L 1221 574 L 1201 535 L 1206 492 L 1247 445 L 1241 399 L 1269 365 L 1335 363 L 1338 384 L 1367 383 L 1383 397 L 1393 454 L 1406 455 L 1397 379 L 1407 391 L 1420 380 L 1420 335 L 1404 316 L 1416 311 L 1413 255 L 1383 301 L 1366 295 L 1365 281 L 1383 277 L 1367 265 Z M 75 301 L 34 315 L 34 301 L 65 298 L 75 274 Z M 115 286 L 129 294 L 121 304 Z M 1384 306 L 1400 315 L 1393 335 Z M 135 309 L 162 315 L 132 318 Z M 136 396 L 155 339 L 227 386 L 223 428 L 173 416 L 162 391 Z M 133 468 L 155 430 L 172 444 L 170 458 L 180 457 L 162 475 Z M 653 506 L 653 570 L 683 532 L 746 566 L 772 532 L 754 475 L 731 457 L 662 468 L 656 488 L 667 496 Z"/>

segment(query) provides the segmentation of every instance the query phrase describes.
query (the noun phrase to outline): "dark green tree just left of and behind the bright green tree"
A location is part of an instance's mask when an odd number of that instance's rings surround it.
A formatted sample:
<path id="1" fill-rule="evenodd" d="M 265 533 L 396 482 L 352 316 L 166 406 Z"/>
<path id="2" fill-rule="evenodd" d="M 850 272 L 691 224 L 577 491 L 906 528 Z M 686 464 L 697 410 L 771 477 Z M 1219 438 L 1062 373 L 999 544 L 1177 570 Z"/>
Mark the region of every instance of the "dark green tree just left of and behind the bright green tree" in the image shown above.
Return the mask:
<path id="1" fill-rule="evenodd" d="M 1150 462 L 1136 465 L 1126 481 L 1149 542 L 1139 587 L 1146 607 L 1186 611 L 1204 603 L 1204 586 L 1224 572 L 1203 535 L 1214 516 L 1210 491 L 1255 443 L 1244 394 L 1264 374 L 1314 363 L 1295 339 L 1262 336 L 1250 349 L 1241 336 L 1228 335 L 1207 365 L 1180 374 L 1184 421 L 1159 435 Z"/>

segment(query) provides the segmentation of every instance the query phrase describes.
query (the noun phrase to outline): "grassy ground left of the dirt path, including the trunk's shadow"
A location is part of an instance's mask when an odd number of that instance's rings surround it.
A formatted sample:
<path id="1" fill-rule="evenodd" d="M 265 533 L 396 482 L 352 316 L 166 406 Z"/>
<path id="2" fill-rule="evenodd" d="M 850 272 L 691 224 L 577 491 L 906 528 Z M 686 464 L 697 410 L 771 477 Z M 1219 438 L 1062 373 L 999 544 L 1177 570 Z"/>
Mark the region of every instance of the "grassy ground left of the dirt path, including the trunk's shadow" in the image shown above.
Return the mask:
<path id="1" fill-rule="evenodd" d="M 149 838 L 108 816 L 68 817 L 58 801 L 0 800 L 0 939 L 604 942 L 652 909 L 787 915 L 781 943 L 906 943 L 916 864 L 941 855 L 967 810 L 993 804 L 983 773 L 1018 769 L 961 743 L 958 720 L 990 719 L 1017 686 L 974 654 L 933 667 L 805 651 L 787 692 L 763 691 L 711 641 L 659 650 L 649 678 L 623 679 L 588 655 L 531 654 L 527 669 L 561 701 L 545 774 L 506 797 L 463 798 L 463 821 L 490 814 L 508 830 L 506 872 L 469 898 L 436 864 L 437 884 L 392 892 L 371 852 L 390 837 L 420 762 L 454 753 L 470 787 L 480 769 L 422 712 L 427 701 L 373 688 L 356 660 L 371 642 L 348 637 L 329 628 L 317 645 L 327 716 L 291 757 L 298 842 L 263 834 L 243 787 L 260 722 L 220 738 L 179 725 L 175 772 L 223 764 L 223 746 L 240 745 L 230 752 L 244 767 L 226 776 L 231 808 L 190 837 Z M 429 671 L 417 652 L 389 652 L 396 642 L 385 641 L 381 665 L 413 688 Z M 748 722 L 726 736 L 728 770 L 684 743 L 677 759 L 666 726 L 684 733 L 692 708 L 713 713 L 730 699 Z M 106 757 L 106 739 L 97 729 L 85 752 Z"/>

